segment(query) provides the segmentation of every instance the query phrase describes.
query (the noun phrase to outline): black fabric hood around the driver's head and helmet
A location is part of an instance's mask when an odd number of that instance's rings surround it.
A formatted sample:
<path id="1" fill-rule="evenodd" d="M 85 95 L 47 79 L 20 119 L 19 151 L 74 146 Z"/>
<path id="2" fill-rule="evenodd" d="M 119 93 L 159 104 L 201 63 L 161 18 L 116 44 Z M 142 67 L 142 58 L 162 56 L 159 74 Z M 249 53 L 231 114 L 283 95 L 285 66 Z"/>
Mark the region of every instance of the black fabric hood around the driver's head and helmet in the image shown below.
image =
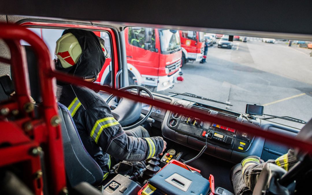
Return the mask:
<path id="1" fill-rule="evenodd" d="M 60 68 L 61 66 L 59 66 L 58 63 L 61 62 L 57 61 L 56 69 L 83 79 L 97 79 L 97 75 L 105 62 L 105 56 L 100 45 L 99 37 L 91 31 L 75 28 L 66 29 L 62 36 L 69 32 L 77 38 L 82 49 L 82 54 L 76 65 L 70 68 Z"/>

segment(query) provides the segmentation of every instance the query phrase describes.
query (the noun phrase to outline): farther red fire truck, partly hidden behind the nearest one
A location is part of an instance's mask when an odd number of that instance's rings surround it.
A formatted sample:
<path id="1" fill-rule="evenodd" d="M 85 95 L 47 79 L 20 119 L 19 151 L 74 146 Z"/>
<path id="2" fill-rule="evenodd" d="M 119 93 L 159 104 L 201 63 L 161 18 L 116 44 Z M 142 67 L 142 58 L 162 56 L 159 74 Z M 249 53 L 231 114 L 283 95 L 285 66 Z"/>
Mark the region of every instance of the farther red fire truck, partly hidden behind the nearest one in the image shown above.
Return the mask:
<path id="1" fill-rule="evenodd" d="M 182 65 L 188 61 L 201 61 L 204 56 L 204 33 L 179 31 L 182 46 Z"/>

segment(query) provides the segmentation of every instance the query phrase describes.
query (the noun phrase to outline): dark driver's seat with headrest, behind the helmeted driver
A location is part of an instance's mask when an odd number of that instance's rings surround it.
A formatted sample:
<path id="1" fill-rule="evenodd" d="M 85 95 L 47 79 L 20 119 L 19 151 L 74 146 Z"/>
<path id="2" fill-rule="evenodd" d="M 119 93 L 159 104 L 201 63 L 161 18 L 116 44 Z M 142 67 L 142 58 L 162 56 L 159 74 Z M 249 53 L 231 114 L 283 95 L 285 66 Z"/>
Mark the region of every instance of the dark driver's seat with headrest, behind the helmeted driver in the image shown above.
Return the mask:
<path id="1" fill-rule="evenodd" d="M 31 95 L 36 103 L 41 103 L 37 57 L 31 46 L 25 46 L 25 50 Z M 68 185 L 74 187 L 80 182 L 87 182 L 94 186 L 100 184 L 103 181 L 103 171 L 83 146 L 69 110 L 66 106 L 58 103 L 58 112 L 62 119 L 61 133 Z"/>

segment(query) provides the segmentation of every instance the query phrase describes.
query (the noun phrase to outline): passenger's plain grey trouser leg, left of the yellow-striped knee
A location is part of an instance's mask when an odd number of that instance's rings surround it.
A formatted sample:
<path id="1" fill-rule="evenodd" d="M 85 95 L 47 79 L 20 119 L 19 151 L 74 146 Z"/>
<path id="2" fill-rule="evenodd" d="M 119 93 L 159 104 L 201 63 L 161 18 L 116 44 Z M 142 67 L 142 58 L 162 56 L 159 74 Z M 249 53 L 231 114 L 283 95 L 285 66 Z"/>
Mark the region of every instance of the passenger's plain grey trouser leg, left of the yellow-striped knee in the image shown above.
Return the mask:
<path id="1" fill-rule="evenodd" d="M 241 172 L 241 163 L 235 165 L 231 170 L 231 181 L 235 195 L 251 195 L 252 191 L 246 186 Z"/>

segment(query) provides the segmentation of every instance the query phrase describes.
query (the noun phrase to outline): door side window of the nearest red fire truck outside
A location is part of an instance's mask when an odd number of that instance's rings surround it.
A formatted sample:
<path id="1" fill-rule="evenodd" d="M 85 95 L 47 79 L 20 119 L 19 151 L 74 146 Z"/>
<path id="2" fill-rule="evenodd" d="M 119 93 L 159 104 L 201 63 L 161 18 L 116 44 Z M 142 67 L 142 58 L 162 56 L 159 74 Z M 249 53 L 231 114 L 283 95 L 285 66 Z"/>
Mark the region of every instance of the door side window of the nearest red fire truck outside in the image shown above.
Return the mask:
<path id="1" fill-rule="evenodd" d="M 130 45 L 144 48 L 145 28 L 129 27 L 129 43 Z"/>

